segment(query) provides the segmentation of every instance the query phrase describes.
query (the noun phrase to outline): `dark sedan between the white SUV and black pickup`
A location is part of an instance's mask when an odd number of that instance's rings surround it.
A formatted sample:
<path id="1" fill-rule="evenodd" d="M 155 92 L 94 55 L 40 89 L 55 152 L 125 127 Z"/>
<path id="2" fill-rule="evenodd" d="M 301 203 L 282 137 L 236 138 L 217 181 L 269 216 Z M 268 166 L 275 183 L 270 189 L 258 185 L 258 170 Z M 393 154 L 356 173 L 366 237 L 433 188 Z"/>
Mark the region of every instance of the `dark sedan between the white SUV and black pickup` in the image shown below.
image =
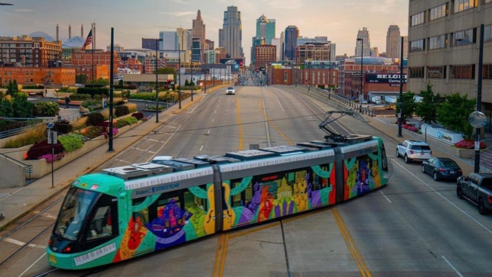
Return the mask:
<path id="1" fill-rule="evenodd" d="M 438 157 L 424 160 L 422 172 L 431 174 L 435 181 L 439 179 L 456 180 L 463 175 L 463 171 L 456 161 Z"/>

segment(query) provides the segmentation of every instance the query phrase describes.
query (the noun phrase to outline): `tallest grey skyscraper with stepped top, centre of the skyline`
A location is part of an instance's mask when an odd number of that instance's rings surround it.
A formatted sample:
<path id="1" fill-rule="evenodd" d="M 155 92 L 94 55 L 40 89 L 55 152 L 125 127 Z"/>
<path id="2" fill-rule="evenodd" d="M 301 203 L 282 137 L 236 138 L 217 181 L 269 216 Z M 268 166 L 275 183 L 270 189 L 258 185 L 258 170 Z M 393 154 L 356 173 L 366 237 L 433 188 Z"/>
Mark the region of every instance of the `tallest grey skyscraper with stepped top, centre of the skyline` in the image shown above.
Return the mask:
<path id="1" fill-rule="evenodd" d="M 224 48 L 226 58 L 243 57 L 243 31 L 241 26 L 241 12 L 238 7 L 229 6 L 224 12 Z"/>

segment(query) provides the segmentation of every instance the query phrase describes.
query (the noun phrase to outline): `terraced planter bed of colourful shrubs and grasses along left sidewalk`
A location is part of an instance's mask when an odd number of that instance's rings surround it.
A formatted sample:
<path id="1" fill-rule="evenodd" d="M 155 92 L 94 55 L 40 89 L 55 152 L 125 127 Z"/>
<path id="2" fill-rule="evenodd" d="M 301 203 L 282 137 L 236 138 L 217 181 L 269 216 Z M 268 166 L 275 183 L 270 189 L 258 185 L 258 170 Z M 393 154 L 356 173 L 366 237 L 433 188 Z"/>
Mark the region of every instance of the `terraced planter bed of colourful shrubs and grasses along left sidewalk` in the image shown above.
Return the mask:
<path id="1" fill-rule="evenodd" d="M 132 108 L 132 111 L 135 110 Z M 109 111 L 106 110 L 104 114 L 109 114 Z M 126 105 L 117 109 L 115 115 L 119 117 L 113 120 L 113 137 L 118 137 L 147 120 L 142 113 L 130 113 Z M 58 169 L 107 143 L 109 132 L 107 116 L 93 113 L 73 122 L 66 120 L 56 122 L 53 130 L 59 135 L 58 142 L 54 145 L 49 144 L 46 139 L 46 124 L 39 124 L 16 137 L 0 140 L 0 145 L 3 147 L 0 149 L 0 154 L 4 155 L 0 155 L 0 175 L 5 181 L 0 182 L 0 187 L 24 186 L 25 182 L 20 182 L 19 178 L 10 180 L 8 176 L 40 178 L 51 172 L 52 163 L 53 168 Z M 55 155 L 52 155 L 52 147 Z M 10 163 L 21 163 L 24 167 L 15 167 L 16 172 L 12 172 Z M 30 167 L 31 172 L 26 171 L 25 167 Z M 6 171 L 7 168 L 10 168 L 10 171 Z"/>

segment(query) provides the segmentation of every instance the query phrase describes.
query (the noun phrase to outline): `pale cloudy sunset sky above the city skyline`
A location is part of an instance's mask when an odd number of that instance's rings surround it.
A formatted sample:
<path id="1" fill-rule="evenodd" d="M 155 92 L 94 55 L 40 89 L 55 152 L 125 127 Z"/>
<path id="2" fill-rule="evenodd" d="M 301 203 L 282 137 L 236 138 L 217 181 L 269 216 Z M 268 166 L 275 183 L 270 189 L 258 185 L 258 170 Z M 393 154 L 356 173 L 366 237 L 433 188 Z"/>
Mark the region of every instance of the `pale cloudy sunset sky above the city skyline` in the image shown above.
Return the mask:
<path id="1" fill-rule="evenodd" d="M 115 44 L 140 48 L 142 37 L 158 37 L 159 31 L 176 27 L 191 29 L 198 9 L 206 25 L 206 38 L 218 46 L 227 6 L 241 11 L 243 48 L 249 64 L 251 38 L 256 34 L 256 19 L 264 14 L 276 19 L 276 36 L 295 25 L 301 36 L 327 36 L 337 44 L 337 55 L 354 55 L 357 31 L 368 28 L 371 47 L 386 51 L 386 32 L 398 25 L 401 35 L 408 33 L 406 0 L 1 0 L 14 4 L 0 6 L 0 36 L 17 36 L 44 31 L 56 38 L 60 26 L 62 41 L 80 35 L 84 25 L 87 36 L 96 23 L 96 48 L 106 49 L 114 27 Z"/>

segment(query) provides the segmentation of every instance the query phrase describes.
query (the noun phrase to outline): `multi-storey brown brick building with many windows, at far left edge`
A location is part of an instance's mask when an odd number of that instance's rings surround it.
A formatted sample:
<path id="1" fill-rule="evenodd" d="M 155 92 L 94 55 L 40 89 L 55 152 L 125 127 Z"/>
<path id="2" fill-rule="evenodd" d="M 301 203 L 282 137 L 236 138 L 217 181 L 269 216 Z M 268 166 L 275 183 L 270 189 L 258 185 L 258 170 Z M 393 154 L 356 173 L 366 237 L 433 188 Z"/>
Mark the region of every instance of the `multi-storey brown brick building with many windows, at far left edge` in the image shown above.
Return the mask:
<path id="1" fill-rule="evenodd" d="M 0 37 L 0 64 L 6 66 L 43 67 L 49 61 L 62 60 L 62 42 L 44 37 Z"/>

